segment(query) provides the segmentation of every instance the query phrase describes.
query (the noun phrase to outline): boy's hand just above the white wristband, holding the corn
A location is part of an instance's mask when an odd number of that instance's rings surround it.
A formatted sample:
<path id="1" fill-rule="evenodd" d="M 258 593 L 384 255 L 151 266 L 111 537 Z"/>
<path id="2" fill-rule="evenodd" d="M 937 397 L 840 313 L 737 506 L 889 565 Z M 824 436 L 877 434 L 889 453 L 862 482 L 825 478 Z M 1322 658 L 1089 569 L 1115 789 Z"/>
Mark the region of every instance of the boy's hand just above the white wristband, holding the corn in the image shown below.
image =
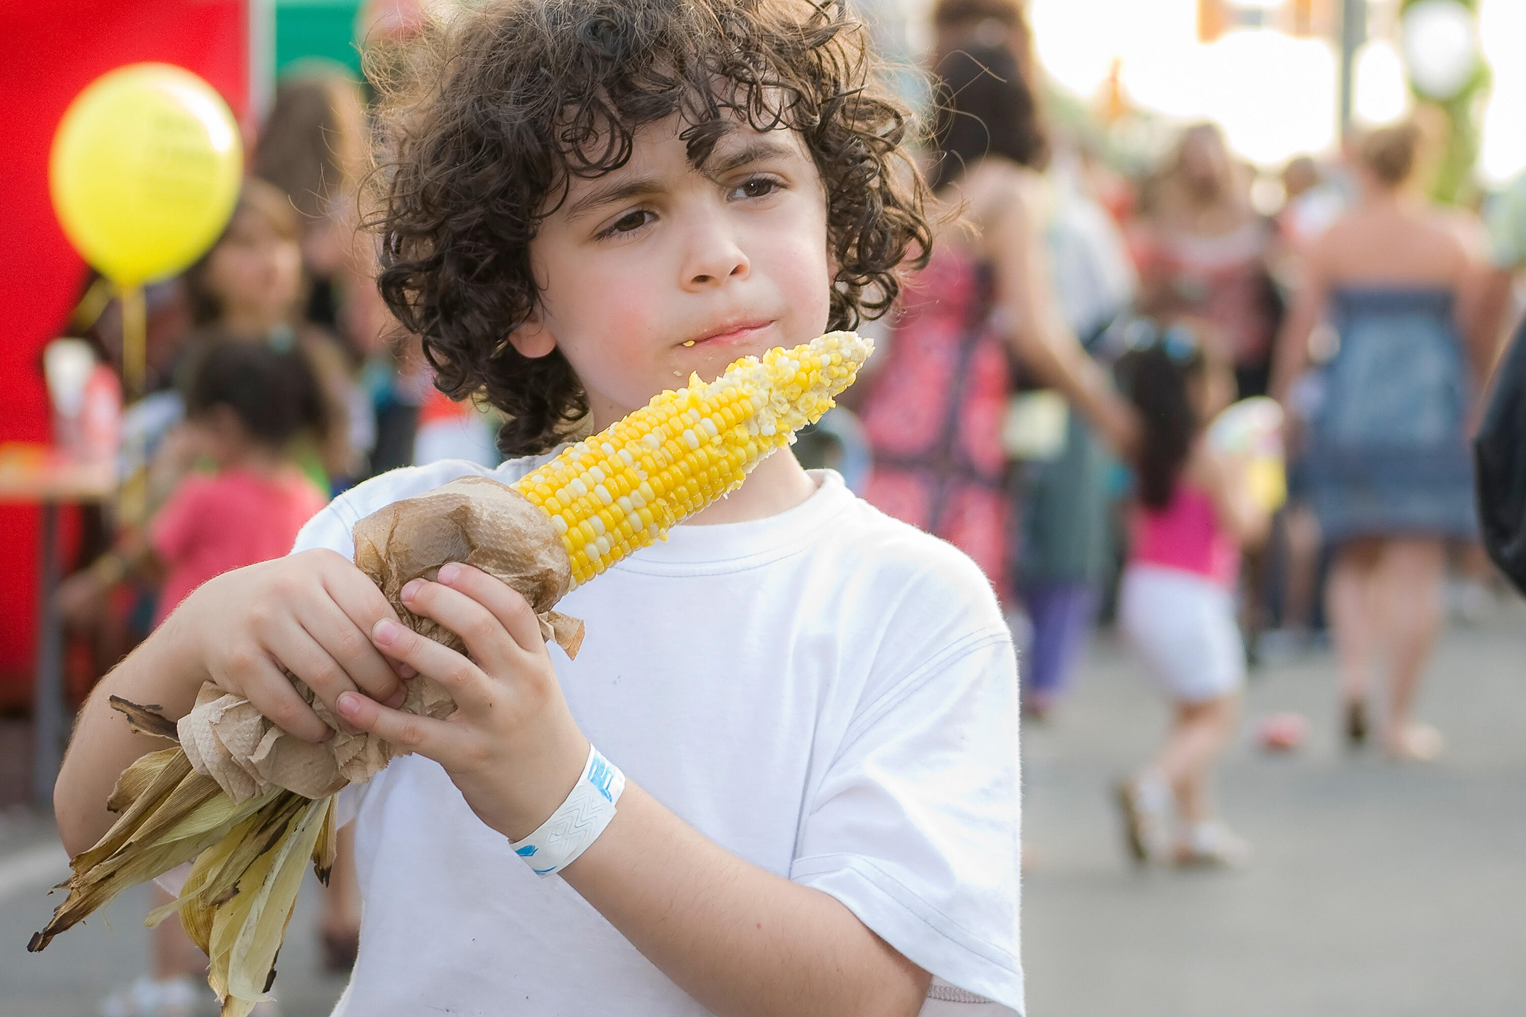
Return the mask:
<path id="1" fill-rule="evenodd" d="M 523 840 L 577 784 L 588 739 L 562 697 L 525 598 L 472 566 L 441 566 L 438 579 L 414 579 L 403 587 L 403 602 L 461 636 L 470 659 L 389 619 L 375 624 L 371 639 L 439 682 L 456 712 L 446 720 L 417 717 L 349 692 L 339 697 L 339 715 L 436 761 L 482 822 Z"/>

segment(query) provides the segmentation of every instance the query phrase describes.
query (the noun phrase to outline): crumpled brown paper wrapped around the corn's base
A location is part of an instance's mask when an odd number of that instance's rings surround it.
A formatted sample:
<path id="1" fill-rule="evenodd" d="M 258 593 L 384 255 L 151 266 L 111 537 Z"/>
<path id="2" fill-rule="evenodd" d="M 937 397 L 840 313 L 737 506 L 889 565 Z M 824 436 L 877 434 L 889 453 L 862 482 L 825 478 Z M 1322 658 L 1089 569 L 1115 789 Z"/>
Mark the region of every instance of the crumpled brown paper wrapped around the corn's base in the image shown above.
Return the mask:
<path id="1" fill-rule="evenodd" d="M 551 610 L 568 592 L 572 566 L 545 512 L 490 477 L 461 477 L 429 494 L 394 502 L 354 529 L 356 566 L 386 595 L 404 625 L 452 650 L 465 651 L 456 633 L 403 607 L 403 587 L 433 579 L 450 561 L 476 566 L 519 590 L 540 619 L 540 634 L 575 657 L 583 622 Z M 290 677 L 290 675 L 288 675 Z M 208 682 L 195 707 L 177 724 L 180 747 L 197 773 L 217 781 L 235 802 L 284 787 L 325 797 L 346 784 L 369 781 L 397 749 L 369 733 L 346 733 L 322 700 L 291 679 L 313 711 L 337 733 L 322 744 L 285 733 L 241 695 Z M 403 683 L 398 707 L 443 720 L 456 703 L 433 679 Z"/>

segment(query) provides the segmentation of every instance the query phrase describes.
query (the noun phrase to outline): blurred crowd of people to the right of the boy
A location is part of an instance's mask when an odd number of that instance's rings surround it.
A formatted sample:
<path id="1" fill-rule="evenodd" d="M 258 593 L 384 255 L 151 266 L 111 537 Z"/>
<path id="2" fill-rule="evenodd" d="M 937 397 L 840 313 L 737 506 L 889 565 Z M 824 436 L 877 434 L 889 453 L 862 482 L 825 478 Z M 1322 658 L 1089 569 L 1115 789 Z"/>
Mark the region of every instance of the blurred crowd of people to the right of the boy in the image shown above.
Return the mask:
<path id="1" fill-rule="evenodd" d="M 1128 849 L 1244 863 L 1209 776 L 1262 659 L 1332 646 L 1349 746 L 1442 752 L 1415 715 L 1425 663 L 1448 607 L 1468 621 L 1502 589 L 1468 439 L 1515 319 L 1526 184 L 1431 203 L 1448 127 L 1427 107 L 1280 178 L 1213 124 L 1123 174 L 1056 130 L 1019 5 L 932 18 L 946 226 L 850 393 L 861 428 L 821 447 L 981 564 L 1030 718 L 1116 622 L 1172 707 L 1117 788 Z"/>

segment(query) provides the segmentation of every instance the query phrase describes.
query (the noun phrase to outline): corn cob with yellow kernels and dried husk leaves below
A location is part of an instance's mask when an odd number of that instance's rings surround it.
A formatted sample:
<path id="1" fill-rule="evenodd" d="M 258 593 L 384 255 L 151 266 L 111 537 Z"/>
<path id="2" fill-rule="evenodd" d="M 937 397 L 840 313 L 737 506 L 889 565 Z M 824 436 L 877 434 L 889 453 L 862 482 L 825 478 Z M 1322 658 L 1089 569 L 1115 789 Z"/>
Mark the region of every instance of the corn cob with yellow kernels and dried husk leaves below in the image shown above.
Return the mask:
<path id="1" fill-rule="evenodd" d="M 790 351 L 771 349 L 761 360 L 743 357 L 713 383 L 691 377 L 687 387 L 653 398 L 514 485 L 551 523 L 548 529 L 525 506 L 540 534 L 539 543 L 525 547 L 552 550 L 555 532 L 568 563 L 560 561 L 562 550 L 548 557 L 557 560 L 562 581 L 571 564 L 572 582 L 586 582 L 736 489 L 766 454 L 832 407 L 832 396 L 853 383 L 871 349 L 853 332 L 832 332 Z M 473 480 L 523 506 L 501 485 Z M 357 526 L 357 543 L 368 520 Z M 501 532 L 490 529 L 487 543 Z M 383 585 L 380 575 L 368 575 Z M 548 601 L 554 604 L 555 596 Z M 446 642 L 452 634 L 433 637 Z M 311 692 L 298 688 L 311 701 Z M 151 709 L 116 697 L 111 703 L 134 729 L 179 741 L 177 726 Z M 453 704 L 447 701 L 444 709 Z M 177 746 L 133 762 L 107 807 L 119 814 L 118 822 L 90 851 L 72 858 L 73 875 L 63 884 L 69 897 L 27 948 L 41 950 L 121 890 L 194 858 L 180 898 L 150 915 L 150 924 L 179 913 L 211 958 L 208 982 L 221 999 L 223 1017 L 246 1017 L 275 979 L 276 951 L 307 860 L 319 878 L 327 878 L 333 865 L 333 796 L 307 797 L 270 787 L 235 802 L 211 776 L 194 770 Z"/>

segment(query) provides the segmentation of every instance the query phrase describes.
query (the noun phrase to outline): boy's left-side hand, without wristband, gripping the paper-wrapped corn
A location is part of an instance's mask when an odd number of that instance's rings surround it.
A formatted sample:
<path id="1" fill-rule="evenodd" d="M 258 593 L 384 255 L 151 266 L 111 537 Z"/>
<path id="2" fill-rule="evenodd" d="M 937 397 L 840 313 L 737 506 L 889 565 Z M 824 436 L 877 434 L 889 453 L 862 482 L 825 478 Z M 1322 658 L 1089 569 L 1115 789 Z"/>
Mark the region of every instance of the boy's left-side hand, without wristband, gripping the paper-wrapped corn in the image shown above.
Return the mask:
<path id="1" fill-rule="evenodd" d="M 226 572 L 195 590 L 171 616 L 175 633 L 220 688 L 243 695 L 282 730 L 327 741 L 333 730 L 302 701 L 282 668 L 331 709 L 340 692 L 403 701 L 403 677 L 368 633 L 397 611 L 353 563 L 331 550 Z M 336 714 L 337 715 L 337 714 Z"/>

